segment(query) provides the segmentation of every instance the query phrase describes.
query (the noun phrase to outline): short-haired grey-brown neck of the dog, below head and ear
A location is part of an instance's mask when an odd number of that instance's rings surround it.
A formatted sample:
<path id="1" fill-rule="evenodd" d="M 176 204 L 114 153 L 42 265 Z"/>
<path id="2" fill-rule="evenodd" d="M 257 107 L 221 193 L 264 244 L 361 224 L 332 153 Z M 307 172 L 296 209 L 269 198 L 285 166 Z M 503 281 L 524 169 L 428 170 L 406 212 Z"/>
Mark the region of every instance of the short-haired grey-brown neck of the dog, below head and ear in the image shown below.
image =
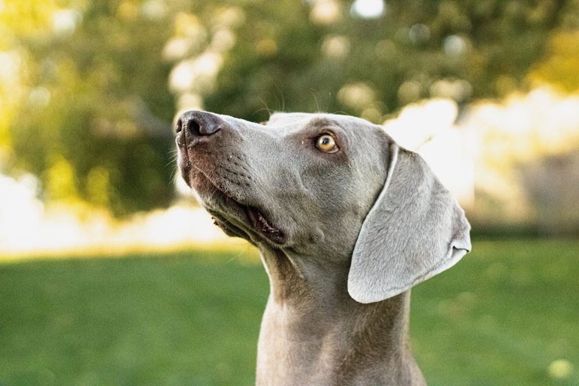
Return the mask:
<path id="1" fill-rule="evenodd" d="M 358 374 L 374 374 L 380 385 L 411 384 L 418 367 L 407 343 L 409 291 L 361 304 L 347 293 L 347 266 L 272 250 L 261 257 L 271 292 L 257 385 L 356 385 Z"/>

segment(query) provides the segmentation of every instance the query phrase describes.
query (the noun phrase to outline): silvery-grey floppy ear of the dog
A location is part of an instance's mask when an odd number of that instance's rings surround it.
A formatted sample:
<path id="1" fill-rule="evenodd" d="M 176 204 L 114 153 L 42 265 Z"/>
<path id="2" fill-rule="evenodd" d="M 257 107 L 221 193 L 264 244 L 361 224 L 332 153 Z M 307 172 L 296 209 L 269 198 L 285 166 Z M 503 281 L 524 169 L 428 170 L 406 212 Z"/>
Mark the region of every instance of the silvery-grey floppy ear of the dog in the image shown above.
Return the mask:
<path id="1" fill-rule="evenodd" d="M 360 229 L 348 292 L 360 303 L 390 298 L 471 250 L 465 212 L 416 153 L 389 146 L 386 182 Z"/>

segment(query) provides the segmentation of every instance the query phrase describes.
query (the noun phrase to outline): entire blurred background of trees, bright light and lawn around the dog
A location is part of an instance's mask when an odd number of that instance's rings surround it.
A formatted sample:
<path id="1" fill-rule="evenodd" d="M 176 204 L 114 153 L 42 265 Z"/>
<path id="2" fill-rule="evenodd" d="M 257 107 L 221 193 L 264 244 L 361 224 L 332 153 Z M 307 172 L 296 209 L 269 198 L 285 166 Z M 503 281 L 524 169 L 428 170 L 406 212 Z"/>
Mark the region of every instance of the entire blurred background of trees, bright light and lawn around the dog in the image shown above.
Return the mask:
<path id="1" fill-rule="evenodd" d="M 579 385 L 573 0 L 0 0 L 0 385 L 252 385 L 267 276 L 179 183 L 190 108 L 385 125 L 473 226 L 413 292 L 429 384 Z"/>

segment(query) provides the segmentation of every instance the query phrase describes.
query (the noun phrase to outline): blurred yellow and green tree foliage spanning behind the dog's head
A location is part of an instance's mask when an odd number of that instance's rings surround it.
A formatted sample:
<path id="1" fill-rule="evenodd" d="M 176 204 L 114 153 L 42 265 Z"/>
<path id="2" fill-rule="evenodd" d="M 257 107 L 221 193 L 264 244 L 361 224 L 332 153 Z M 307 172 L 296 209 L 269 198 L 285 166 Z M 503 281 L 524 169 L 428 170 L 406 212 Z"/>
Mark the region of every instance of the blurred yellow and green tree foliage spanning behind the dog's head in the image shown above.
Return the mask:
<path id="1" fill-rule="evenodd" d="M 272 109 L 381 123 L 425 97 L 502 96 L 528 87 L 538 61 L 538 78 L 550 80 L 558 54 L 545 45 L 568 48 L 557 34 L 577 29 L 578 9 L 556 0 L 0 0 L 0 167 L 39 176 L 46 199 L 116 214 L 166 205 L 175 104 L 252 121 Z"/>

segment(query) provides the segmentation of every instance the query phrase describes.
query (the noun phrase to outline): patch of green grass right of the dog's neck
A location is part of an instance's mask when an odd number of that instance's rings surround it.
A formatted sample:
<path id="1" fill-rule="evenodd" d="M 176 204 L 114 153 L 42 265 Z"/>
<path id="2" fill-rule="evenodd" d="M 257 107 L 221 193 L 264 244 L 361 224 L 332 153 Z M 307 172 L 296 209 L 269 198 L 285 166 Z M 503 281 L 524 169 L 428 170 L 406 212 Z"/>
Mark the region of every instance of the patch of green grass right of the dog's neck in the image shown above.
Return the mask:
<path id="1" fill-rule="evenodd" d="M 429 385 L 579 385 L 579 241 L 485 241 L 413 291 Z M 569 360 L 574 371 L 549 376 Z"/>

